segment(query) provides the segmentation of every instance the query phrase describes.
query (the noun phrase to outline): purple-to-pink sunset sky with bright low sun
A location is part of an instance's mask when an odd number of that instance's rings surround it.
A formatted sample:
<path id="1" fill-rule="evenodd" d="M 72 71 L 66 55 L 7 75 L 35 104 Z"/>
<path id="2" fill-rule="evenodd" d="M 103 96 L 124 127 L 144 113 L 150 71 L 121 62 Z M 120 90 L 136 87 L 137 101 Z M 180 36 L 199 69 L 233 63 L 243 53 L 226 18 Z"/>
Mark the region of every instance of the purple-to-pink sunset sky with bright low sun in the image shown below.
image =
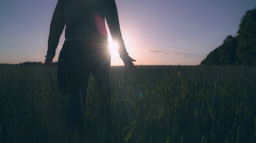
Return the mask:
<path id="1" fill-rule="evenodd" d="M 1 0 L 0 63 L 42 61 L 57 0 Z M 116 0 L 122 36 L 136 65 L 198 65 L 236 36 L 255 0 Z M 56 56 L 64 43 L 61 36 Z M 111 37 L 109 36 L 109 41 Z M 112 66 L 122 66 L 118 52 Z"/>

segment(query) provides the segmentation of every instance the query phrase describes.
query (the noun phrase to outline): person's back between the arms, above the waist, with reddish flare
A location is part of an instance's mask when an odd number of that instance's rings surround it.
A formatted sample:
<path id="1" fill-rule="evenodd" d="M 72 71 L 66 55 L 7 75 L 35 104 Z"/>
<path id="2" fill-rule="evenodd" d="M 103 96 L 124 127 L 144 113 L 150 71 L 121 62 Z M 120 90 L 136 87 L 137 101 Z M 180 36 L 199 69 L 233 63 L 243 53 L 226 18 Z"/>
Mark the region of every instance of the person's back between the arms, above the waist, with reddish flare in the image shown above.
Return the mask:
<path id="1" fill-rule="evenodd" d="M 64 0 L 65 39 L 107 41 L 106 1 Z"/>

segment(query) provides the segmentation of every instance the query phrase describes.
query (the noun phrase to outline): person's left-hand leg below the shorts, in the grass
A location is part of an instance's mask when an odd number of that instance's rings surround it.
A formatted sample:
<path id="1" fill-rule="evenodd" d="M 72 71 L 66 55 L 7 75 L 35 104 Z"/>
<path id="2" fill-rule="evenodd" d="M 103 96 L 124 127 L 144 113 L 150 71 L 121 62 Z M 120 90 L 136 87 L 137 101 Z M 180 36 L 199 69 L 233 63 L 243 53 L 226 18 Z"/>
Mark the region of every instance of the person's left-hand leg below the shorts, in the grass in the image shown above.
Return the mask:
<path id="1" fill-rule="evenodd" d="M 79 89 L 74 89 L 70 95 L 70 102 L 68 106 L 67 113 L 67 142 L 74 142 L 74 133 L 76 132 L 76 126 L 79 131 L 80 142 L 84 141 L 85 134 L 85 107 L 86 107 L 86 97 L 88 80 L 86 80 L 85 85 Z"/>

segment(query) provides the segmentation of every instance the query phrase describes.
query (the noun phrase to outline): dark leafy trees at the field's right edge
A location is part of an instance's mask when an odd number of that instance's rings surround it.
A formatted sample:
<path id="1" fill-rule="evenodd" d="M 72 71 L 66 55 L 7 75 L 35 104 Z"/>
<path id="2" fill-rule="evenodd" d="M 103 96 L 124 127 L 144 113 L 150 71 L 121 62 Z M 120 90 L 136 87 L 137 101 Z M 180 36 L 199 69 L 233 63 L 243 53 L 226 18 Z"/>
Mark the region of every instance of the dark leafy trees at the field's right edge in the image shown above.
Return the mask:
<path id="1" fill-rule="evenodd" d="M 201 65 L 256 66 L 256 7 L 243 15 L 237 34 L 227 36 Z"/>

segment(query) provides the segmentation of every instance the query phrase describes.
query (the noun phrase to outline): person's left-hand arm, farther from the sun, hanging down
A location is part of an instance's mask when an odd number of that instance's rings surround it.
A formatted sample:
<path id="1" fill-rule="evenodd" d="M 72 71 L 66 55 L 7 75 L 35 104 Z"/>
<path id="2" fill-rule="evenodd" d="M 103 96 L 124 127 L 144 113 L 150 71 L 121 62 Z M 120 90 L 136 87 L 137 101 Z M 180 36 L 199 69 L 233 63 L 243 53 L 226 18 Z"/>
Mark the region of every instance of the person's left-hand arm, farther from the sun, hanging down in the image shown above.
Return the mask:
<path id="1" fill-rule="evenodd" d="M 48 50 L 46 55 L 46 66 L 52 65 L 53 57 L 55 57 L 56 48 L 59 43 L 62 31 L 65 27 L 64 1 L 58 0 L 52 21 L 50 23 L 50 33 L 48 39 Z"/>

